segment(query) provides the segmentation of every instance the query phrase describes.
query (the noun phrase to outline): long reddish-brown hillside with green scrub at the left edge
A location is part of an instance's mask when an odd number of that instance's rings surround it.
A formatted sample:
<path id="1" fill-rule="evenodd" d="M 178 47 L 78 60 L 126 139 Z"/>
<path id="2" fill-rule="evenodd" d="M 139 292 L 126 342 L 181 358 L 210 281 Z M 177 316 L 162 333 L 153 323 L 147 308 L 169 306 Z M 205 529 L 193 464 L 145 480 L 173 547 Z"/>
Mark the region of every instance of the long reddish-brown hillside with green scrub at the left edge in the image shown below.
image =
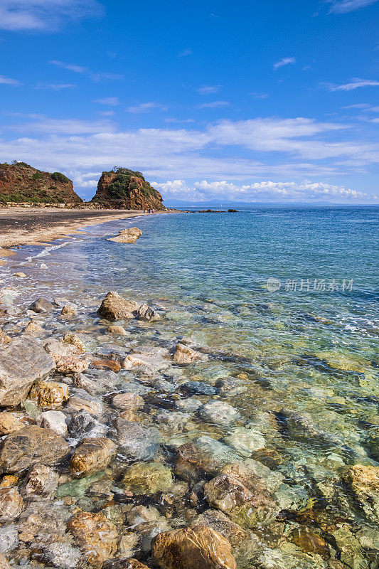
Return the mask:
<path id="1" fill-rule="evenodd" d="M 73 182 L 60 172 L 43 172 L 25 164 L 0 164 L 0 203 L 82 203 Z"/>

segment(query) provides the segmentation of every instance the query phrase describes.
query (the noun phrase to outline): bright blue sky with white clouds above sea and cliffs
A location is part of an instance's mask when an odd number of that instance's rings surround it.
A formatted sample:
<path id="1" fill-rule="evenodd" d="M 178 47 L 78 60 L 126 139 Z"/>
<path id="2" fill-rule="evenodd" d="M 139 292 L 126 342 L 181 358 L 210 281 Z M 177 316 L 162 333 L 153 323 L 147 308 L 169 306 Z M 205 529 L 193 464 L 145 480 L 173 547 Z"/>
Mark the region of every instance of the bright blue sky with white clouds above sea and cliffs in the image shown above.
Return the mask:
<path id="1" fill-rule="evenodd" d="M 0 161 L 91 198 L 378 203 L 378 0 L 0 0 Z"/>

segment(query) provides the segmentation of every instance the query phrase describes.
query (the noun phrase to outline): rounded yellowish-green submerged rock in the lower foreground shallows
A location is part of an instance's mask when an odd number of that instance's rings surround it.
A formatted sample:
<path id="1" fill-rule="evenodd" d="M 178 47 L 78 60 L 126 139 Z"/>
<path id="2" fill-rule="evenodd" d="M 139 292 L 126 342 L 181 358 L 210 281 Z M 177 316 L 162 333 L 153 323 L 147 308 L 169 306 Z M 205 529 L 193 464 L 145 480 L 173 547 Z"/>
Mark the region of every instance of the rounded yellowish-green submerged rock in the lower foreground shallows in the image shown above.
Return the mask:
<path id="1" fill-rule="evenodd" d="M 127 468 L 122 479 L 123 488 L 133 494 L 166 492 L 172 484 L 171 469 L 158 462 L 136 462 Z"/>

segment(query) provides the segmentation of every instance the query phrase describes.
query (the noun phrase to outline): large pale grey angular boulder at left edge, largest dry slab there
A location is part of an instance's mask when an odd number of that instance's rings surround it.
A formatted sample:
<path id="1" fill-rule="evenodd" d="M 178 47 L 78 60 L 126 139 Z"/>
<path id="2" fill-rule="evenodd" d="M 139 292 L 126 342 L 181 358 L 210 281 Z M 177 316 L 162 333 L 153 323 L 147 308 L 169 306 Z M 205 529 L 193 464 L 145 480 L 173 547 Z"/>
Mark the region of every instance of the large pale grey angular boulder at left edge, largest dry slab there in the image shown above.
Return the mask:
<path id="1" fill-rule="evenodd" d="M 46 378 L 55 362 L 29 336 L 0 348 L 0 406 L 18 405 L 37 380 Z"/>

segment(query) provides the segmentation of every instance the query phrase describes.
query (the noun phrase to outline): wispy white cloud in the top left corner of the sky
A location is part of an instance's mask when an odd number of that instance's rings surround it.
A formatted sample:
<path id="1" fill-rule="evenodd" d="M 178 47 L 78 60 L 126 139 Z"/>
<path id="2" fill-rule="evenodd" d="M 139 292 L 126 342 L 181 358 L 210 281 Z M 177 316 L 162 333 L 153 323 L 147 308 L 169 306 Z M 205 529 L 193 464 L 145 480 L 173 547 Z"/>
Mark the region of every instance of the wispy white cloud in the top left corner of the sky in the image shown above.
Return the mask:
<path id="1" fill-rule="evenodd" d="M 102 14 L 96 0 L 1 0 L 0 29 L 55 31 L 63 23 Z"/>

